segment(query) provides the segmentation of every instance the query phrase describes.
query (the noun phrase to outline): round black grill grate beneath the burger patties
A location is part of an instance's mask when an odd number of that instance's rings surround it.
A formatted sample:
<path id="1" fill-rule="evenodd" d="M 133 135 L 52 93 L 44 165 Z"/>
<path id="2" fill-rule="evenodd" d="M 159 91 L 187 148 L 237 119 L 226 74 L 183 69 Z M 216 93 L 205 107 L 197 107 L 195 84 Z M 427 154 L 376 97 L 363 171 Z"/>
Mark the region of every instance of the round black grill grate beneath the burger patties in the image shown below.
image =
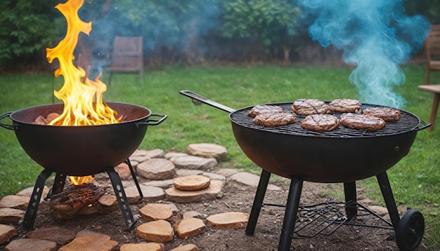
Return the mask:
<path id="1" fill-rule="evenodd" d="M 285 103 L 273 103 L 270 105 L 278 105 L 283 107 L 285 111 L 292 111 L 293 102 L 285 102 Z M 380 107 L 375 104 L 362 104 L 362 109 L 367 109 L 370 107 Z M 311 130 L 306 130 L 302 128 L 301 121 L 306 116 L 297 115 L 297 122 L 292 123 L 287 126 L 277 126 L 277 127 L 268 127 L 268 126 L 260 126 L 254 124 L 252 122 L 252 117 L 247 116 L 247 113 L 252 109 L 252 107 L 246 107 L 243 109 L 239 109 L 230 114 L 231 121 L 233 123 L 238 124 L 239 126 L 244 126 L 246 128 L 252 128 L 257 130 L 264 130 L 271 133 L 281 133 L 287 135 L 299 135 L 299 136 L 318 136 L 318 137 L 377 137 L 377 136 L 386 136 L 386 135 L 395 135 L 399 133 L 406 133 L 409 130 L 414 130 L 420 125 L 420 119 L 411 114 L 408 111 L 401 111 L 401 119 L 397 122 L 387 122 L 387 125 L 377 131 L 365 131 L 365 130 L 356 130 L 351 128 L 346 128 L 342 125 L 339 125 L 339 128 L 332 130 L 330 132 L 313 132 Z M 332 113 L 337 118 L 341 115 L 341 113 Z"/>

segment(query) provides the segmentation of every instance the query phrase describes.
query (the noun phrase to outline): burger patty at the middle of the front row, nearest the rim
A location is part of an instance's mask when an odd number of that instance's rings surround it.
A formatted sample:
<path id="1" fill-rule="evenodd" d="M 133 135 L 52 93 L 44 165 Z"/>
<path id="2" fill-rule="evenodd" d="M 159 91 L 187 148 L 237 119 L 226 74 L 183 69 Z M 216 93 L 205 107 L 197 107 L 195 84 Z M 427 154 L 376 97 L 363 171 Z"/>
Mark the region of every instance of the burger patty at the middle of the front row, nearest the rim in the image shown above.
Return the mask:
<path id="1" fill-rule="evenodd" d="M 339 126 L 339 119 L 331 114 L 312 114 L 301 121 L 301 126 L 315 132 L 328 132 Z"/>

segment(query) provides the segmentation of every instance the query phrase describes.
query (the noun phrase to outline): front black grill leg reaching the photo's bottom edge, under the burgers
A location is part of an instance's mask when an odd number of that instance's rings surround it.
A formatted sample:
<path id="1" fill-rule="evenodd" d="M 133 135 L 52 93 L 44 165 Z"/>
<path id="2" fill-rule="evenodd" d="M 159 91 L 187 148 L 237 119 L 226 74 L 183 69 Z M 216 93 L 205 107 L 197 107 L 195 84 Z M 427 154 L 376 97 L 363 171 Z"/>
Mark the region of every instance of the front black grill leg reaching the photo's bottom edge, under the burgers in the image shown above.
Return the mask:
<path id="1" fill-rule="evenodd" d="M 295 230 L 295 220 L 299 208 L 299 198 L 301 198 L 302 184 L 302 179 L 292 179 L 290 181 L 289 195 L 287 196 L 287 205 L 284 212 L 283 228 L 281 229 L 278 251 L 290 250 L 292 235 Z"/>

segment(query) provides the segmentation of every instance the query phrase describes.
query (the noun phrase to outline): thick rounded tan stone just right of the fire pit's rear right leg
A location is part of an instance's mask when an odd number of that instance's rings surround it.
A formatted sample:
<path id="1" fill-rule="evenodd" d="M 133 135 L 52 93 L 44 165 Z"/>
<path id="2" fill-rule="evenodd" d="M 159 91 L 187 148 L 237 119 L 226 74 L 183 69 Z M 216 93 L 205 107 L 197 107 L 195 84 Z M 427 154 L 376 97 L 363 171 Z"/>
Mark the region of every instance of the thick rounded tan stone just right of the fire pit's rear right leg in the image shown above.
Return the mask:
<path id="1" fill-rule="evenodd" d="M 145 179 L 172 179 L 176 175 L 175 169 L 174 164 L 165 158 L 152 158 L 140 163 L 137 172 Z"/>

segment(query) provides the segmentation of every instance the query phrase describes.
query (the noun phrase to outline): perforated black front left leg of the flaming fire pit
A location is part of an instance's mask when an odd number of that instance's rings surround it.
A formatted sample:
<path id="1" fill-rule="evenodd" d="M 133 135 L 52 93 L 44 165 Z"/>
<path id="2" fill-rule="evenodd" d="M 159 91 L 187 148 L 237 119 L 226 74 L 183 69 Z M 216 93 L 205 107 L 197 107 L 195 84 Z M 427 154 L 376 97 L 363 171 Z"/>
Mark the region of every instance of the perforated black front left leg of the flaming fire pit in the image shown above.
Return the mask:
<path id="1" fill-rule="evenodd" d="M 35 218 L 37 217 L 37 210 L 41 200 L 41 195 L 43 194 L 44 184 L 46 179 L 52 175 L 52 171 L 44 169 L 40 172 L 37 177 L 37 182 L 35 182 L 34 191 L 32 191 L 32 196 L 30 197 L 29 205 L 27 205 L 27 210 L 25 218 L 23 219 L 24 229 L 33 229 Z"/>

